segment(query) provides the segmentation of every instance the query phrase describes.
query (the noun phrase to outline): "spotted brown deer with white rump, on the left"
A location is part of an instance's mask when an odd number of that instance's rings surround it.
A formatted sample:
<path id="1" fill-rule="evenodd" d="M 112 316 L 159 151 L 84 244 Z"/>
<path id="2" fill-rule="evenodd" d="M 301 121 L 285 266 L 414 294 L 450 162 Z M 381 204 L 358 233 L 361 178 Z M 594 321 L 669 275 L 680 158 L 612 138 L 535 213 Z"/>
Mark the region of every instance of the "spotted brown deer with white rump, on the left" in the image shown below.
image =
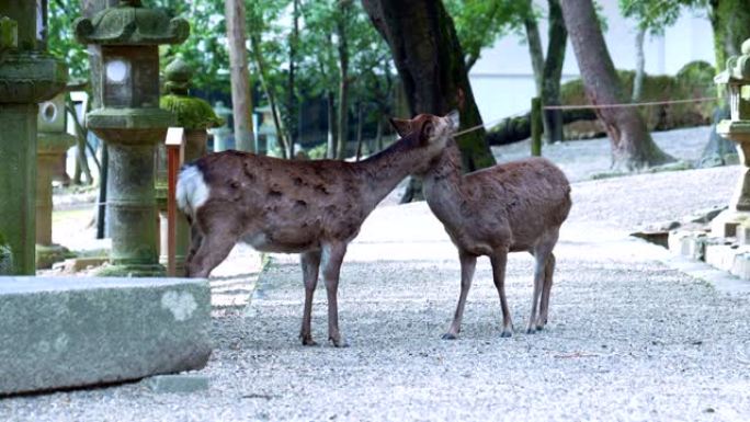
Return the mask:
<path id="1" fill-rule="evenodd" d="M 346 247 L 401 180 L 425 171 L 441 153 L 453 122 L 450 116 L 422 115 L 414 130 L 359 162 L 283 160 L 229 150 L 183 166 L 175 196 L 193 235 L 186 276 L 207 277 L 239 241 L 262 252 L 299 253 L 303 345 L 317 344 L 310 319 L 320 273 L 328 295 L 329 341 L 348 346 L 337 304 Z"/>

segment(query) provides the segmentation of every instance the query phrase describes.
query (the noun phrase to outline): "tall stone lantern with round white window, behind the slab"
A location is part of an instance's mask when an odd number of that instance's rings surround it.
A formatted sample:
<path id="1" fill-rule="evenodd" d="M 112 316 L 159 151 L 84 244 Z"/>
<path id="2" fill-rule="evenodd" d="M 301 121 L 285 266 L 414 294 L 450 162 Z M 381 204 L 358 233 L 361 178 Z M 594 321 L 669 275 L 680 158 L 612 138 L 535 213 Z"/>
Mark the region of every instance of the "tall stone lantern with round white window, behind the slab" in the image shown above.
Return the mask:
<path id="1" fill-rule="evenodd" d="M 101 275 L 161 275 L 154 159 L 175 118 L 159 109 L 159 44 L 182 43 L 190 25 L 140 0 L 121 0 L 91 20 L 79 18 L 73 31 L 102 59 L 101 79 L 92 81 L 102 107 L 87 115 L 87 126 L 107 142 L 110 155 L 112 265 Z"/>

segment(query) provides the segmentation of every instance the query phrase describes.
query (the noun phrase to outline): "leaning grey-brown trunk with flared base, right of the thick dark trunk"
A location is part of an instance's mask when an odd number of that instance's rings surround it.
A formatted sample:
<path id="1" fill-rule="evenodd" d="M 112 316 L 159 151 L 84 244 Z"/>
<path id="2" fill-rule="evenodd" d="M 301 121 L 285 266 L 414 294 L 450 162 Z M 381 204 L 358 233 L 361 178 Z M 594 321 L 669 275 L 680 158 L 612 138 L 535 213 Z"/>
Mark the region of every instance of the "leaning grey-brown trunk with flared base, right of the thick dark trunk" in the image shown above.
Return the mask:
<path id="1" fill-rule="evenodd" d="M 626 102 L 592 0 L 564 0 L 560 5 L 591 104 Z M 632 171 L 674 160 L 654 142 L 636 109 L 596 109 L 596 114 L 612 141 L 614 169 Z"/>

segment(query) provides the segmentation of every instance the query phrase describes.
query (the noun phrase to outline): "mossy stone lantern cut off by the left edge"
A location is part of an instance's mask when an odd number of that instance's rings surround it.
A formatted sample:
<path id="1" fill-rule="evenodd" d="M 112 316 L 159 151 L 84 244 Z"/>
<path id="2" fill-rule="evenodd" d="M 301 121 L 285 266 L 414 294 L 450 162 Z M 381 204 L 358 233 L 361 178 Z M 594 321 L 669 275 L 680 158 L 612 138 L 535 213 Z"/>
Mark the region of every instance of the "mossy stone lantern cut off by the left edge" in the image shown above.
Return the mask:
<path id="1" fill-rule="evenodd" d="M 0 2 L 0 239 L 12 254 L 2 274 L 36 272 L 36 116 L 68 79 L 45 52 L 46 19 L 46 1 Z"/>

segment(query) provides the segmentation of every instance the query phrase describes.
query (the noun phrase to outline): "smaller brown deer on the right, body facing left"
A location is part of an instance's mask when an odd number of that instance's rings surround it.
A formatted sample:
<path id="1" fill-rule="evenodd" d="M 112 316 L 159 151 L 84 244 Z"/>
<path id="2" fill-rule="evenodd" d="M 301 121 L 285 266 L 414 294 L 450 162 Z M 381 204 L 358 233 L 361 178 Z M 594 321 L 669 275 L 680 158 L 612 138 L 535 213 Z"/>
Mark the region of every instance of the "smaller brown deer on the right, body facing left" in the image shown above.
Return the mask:
<path id="1" fill-rule="evenodd" d="M 420 127 L 423 118 L 391 119 L 391 124 L 404 135 Z M 454 126 L 458 126 L 457 122 Z M 420 173 L 428 205 L 458 248 L 461 260 L 461 296 L 443 339 L 456 339 L 461 331 L 466 295 L 479 255 L 488 255 L 492 264 L 502 308 L 501 337 L 512 334 L 504 277 L 508 252 L 516 251 L 527 251 L 536 261 L 526 332 L 542 330 L 547 322 L 555 271 L 553 248 L 571 205 L 565 174 L 544 158 L 530 158 L 462 175 L 461 151 L 453 139 L 432 166 Z"/>

